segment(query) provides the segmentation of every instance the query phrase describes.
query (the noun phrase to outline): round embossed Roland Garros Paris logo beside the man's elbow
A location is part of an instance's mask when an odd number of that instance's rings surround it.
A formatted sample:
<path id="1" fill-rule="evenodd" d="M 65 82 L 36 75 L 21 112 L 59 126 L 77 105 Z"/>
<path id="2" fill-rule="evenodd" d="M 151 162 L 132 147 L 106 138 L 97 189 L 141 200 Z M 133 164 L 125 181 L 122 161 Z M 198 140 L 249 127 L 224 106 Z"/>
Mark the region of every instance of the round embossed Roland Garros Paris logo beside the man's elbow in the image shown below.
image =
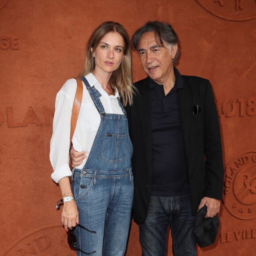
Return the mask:
<path id="1" fill-rule="evenodd" d="M 237 156 L 224 173 L 224 204 L 237 218 L 256 218 L 256 152 Z"/>

